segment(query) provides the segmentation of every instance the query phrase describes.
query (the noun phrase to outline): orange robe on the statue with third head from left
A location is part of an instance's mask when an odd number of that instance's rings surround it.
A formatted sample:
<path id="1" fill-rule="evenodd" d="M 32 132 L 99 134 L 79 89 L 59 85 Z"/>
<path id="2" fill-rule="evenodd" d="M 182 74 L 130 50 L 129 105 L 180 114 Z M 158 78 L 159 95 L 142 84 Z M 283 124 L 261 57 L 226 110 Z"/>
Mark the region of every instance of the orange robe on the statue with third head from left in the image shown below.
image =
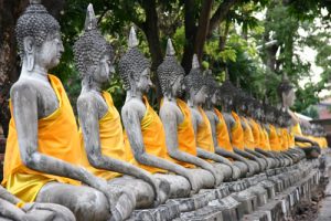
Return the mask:
<path id="1" fill-rule="evenodd" d="M 171 160 L 167 151 L 166 134 L 164 134 L 162 122 L 159 115 L 149 105 L 147 97 L 143 96 L 142 102 L 145 103 L 146 106 L 146 113 L 143 118 L 141 119 L 140 128 L 141 128 L 145 151 L 149 155 L 153 155 L 163 159 Z M 126 133 L 125 133 L 125 144 L 127 145 L 127 147 L 130 147 L 130 141 Z M 138 167 L 146 169 L 151 173 L 167 172 L 167 170 L 160 168 L 149 167 L 139 164 L 135 159 L 135 156 L 131 151 L 128 154 L 128 160 L 129 162 L 137 165 Z"/>

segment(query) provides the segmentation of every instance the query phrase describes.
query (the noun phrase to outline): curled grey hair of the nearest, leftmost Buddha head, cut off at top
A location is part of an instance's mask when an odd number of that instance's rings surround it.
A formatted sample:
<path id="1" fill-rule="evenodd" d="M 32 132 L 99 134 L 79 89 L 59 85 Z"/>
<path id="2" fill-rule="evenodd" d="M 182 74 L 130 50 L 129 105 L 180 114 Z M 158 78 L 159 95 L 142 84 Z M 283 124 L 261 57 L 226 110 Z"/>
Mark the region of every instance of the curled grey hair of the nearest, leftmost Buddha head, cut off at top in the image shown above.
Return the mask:
<path id="1" fill-rule="evenodd" d="M 24 39 L 31 36 L 36 46 L 41 46 L 49 34 L 60 32 L 58 22 L 52 17 L 41 0 L 30 0 L 30 6 L 19 18 L 15 33 L 21 59 L 24 57 Z"/>

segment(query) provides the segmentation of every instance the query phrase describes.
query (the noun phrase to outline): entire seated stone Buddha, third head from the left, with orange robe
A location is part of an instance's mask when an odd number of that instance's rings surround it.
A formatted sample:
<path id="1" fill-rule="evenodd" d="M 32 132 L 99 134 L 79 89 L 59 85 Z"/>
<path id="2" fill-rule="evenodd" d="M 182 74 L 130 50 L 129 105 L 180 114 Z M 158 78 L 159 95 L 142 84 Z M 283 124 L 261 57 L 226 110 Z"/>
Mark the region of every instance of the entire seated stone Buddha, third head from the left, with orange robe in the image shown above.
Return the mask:
<path id="1" fill-rule="evenodd" d="M 131 149 L 128 160 L 170 183 L 170 198 L 183 198 L 197 190 L 189 169 L 171 160 L 166 144 L 163 125 L 145 94 L 152 85 L 150 62 L 138 50 L 135 29 L 131 28 L 128 51 L 119 61 L 119 74 L 127 91 L 121 118 L 125 143 Z M 172 173 L 170 173 L 172 172 Z"/>

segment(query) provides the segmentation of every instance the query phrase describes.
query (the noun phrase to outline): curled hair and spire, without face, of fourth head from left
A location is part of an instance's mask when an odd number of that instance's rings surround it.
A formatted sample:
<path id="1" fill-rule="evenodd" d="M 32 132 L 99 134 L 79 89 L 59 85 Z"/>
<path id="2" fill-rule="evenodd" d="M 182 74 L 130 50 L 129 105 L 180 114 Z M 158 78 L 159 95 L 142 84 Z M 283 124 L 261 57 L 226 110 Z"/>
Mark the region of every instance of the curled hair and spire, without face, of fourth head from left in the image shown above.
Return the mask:
<path id="1" fill-rule="evenodd" d="M 184 69 L 177 61 L 171 39 L 168 39 L 166 57 L 157 72 L 163 95 L 169 93 L 178 77 L 185 75 Z"/>

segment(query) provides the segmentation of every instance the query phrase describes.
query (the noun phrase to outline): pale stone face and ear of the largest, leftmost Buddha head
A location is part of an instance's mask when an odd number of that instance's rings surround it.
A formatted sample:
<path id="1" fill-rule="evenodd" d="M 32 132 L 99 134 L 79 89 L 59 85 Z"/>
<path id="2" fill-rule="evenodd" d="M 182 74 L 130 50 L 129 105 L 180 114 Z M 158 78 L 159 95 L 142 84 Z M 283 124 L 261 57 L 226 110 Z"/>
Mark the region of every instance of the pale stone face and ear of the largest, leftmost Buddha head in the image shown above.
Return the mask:
<path id="1" fill-rule="evenodd" d="M 35 49 L 33 49 L 32 39 L 26 38 L 24 49 L 28 51 L 28 56 L 33 54 L 31 51 L 34 51 L 34 64 L 39 64 L 46 70 L 55 67 L 60 63 L 61 55 L 64 52 L 61 33 L 58 31 L 54 34 L 49 34 L 42 45 Z"/>

